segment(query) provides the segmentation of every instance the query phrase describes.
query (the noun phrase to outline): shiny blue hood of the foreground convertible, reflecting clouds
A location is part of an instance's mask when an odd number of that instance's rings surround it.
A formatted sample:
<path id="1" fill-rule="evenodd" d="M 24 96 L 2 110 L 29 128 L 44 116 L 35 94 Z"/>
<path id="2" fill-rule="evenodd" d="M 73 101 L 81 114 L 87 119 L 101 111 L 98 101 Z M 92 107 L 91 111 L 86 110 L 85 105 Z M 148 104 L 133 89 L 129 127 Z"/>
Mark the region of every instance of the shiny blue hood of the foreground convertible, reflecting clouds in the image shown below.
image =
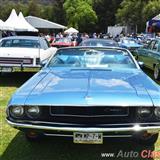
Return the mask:
<path id="1" fill-rule="evenodd" d="M 152 106 L 159 88 L 141 70 L 44 70 L 25 83 L 12 104 Z"/>

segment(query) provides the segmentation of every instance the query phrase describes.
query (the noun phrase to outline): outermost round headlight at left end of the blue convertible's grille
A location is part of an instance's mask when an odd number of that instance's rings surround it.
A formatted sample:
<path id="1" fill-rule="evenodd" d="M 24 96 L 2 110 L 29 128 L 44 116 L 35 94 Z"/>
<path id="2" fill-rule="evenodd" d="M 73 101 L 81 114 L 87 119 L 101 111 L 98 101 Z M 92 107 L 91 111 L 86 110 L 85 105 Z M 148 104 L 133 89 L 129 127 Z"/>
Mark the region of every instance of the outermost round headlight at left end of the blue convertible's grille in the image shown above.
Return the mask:
<path id="1" fill-rule="evenodd" d="M 24 114 L 24 108 L 22 106 L 13 106 L 10 108 L 10 113 L 14 118 L 22 117 Z"/>

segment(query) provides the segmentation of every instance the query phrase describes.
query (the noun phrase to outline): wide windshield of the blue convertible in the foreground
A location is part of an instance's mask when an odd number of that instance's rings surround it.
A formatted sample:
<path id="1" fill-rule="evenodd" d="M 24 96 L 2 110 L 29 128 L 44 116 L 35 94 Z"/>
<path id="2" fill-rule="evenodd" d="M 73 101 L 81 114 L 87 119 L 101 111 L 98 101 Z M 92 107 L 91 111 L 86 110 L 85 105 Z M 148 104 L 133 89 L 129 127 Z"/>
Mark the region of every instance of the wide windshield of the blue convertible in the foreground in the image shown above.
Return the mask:
<path id="1" fill-rule="evenodd" d="M 59 50 L 48 67 L 136 68 L 127 51 L 118 49 Z"/>

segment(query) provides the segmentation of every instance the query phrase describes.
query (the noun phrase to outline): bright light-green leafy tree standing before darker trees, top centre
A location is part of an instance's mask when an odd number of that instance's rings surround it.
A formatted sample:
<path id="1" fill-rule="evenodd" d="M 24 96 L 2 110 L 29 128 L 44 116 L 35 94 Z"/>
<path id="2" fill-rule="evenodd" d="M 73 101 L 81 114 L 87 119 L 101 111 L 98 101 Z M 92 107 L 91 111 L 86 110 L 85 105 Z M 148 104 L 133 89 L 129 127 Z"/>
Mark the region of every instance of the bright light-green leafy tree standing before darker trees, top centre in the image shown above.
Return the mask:
<path id="1" fill-rule="evenodd" d="M 85 0 L 66 0 L 64 3 L 68 26 L 75 27 L 81 32 L 93 31 L 97 16 L 91 4 Z"/>

